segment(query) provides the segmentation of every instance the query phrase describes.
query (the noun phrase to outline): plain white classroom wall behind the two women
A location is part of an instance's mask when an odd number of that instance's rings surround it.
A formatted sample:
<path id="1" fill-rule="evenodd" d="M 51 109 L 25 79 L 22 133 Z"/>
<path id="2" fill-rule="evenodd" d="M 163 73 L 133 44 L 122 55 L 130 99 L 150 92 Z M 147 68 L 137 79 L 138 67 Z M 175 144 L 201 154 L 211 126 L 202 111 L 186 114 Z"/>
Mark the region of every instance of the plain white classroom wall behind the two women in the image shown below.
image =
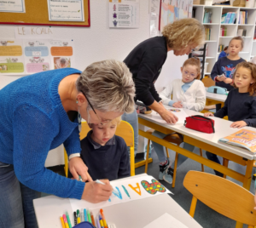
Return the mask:
<path id="1" fill-rule="evenodd" d="M 0 26 L 1 38 L 15 38 L 14 26 Z M 124 60 L 138 43 L 149 38 L 148 0 L 140 0 L 140 26 L 138 29 L 114 29 L 108 27 L 108 1 L 90 1 L 90 27 L 55 27 L 53 39 L 73 39 L 75 67 L 83 71 L 90 63 L 106 59 Z M 155 83 L 158 91 L 172 79 L 180 77 L 179 68 L 187 55 L 175 57 L 168 53 L 166 64 Z M 17 76 L 0 74 L 0 89 L 15 81 Z M 143 143 L 143 142 L 140 142 Z M 60 149 L 61 151 L 62 149 Z M 50 165 L 55 159 L 48 159 Z M 48 163 L 48 162 L 47 162 Z"/>

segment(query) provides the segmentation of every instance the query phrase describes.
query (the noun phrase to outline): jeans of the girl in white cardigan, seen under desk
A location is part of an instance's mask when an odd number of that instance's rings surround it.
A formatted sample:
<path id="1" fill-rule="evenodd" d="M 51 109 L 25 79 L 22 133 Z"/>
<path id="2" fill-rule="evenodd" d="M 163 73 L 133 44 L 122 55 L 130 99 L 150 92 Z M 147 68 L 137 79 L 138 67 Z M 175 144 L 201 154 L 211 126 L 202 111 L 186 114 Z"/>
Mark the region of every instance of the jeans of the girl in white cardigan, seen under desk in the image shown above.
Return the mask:
<path id="1" fill-rule="evenodd" d="M 153 133 L 154 136 L 160 138 L 161 140 L 164 139 L 168 134 L 163 134 L 160 133 L 159 131 L 154 131 Z M 166 153 L 164 151 L 164 146 L 160 145 L 154 141 L 152 141 L 152 145 L 154 146 L 154 151 L 156 152 L 158 159 L 160 162 L 165 162 L 167 157 L 166 157 Z M 194 151 L 195 146 L 194 145 L 190 145 L 188 143 L 184 143 L 183 145 L 183 149 L 188 150 L 188 151 Z M 183 156 L 182 154 L 178 155 L 178 159 L 177 159 L 177 168 L 186 160 L 188 159 L 188 157 Z M 174 168 L 174 162 L 172 162 L 171 165 L 172 168 Z"/>

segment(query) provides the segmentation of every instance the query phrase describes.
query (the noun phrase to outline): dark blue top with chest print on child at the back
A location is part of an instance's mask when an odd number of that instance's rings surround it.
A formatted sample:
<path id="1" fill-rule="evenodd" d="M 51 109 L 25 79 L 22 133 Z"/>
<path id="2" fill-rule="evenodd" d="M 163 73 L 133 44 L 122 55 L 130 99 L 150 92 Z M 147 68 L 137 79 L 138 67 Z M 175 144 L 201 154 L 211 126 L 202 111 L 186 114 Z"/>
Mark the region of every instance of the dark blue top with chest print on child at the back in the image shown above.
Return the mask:
<path id="1" fill-rule="evenodd" d="M 224 74 L 225 77 L 232 78 L 236 65 L 243 61 L 245 60 L 241 58 L 239 60 L 230 60 L 228 59 L 228 57 L 220 58 L 212 68 L 212 72 L 211 72 L 212 80 L 215 81 L 215 77 L 222 74 Z M 230 84 L 226 84 L 224 82 L 216 82 L 216 86 L 227 88 L 228 91 L 234 88 Z"/>

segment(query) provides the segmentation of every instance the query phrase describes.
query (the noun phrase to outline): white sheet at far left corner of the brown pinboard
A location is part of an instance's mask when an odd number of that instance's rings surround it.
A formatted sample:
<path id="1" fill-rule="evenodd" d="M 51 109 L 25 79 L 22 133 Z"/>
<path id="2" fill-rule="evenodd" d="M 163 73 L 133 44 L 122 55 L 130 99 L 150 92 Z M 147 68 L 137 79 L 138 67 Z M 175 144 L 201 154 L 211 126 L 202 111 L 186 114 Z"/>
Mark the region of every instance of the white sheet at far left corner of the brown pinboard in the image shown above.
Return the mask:
<path id="1" fill-rule="evenodd" d="M 0 12 L 26 13 L 24 0 L 0 0 Z"/>

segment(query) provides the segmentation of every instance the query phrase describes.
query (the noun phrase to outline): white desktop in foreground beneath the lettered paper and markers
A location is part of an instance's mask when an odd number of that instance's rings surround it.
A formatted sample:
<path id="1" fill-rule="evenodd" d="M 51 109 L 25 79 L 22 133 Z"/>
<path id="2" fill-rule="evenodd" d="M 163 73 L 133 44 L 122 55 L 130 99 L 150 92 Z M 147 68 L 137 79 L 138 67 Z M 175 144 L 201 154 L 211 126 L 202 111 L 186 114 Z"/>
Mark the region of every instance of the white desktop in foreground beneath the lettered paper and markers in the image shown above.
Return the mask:
<path id="1" fill-rule="evenodd" d="M 147 174 L 140 174 L 143 176 Z M 132 179 L 134 176 L 127 179 Z M 39 228 L 61 228 L 60 216 L 68 212 L 73 225 L 73 211 L 69 199 L 55 196 L 38 198 L 33 201 Z M 86 208 L 86 203 L 84 203 Z M 79 208 L 78 208 L 79 209 Z M 90 208 L 88 208 L 90 210 Z M 162 214 L 171 214 L 189 228 L 202 228 L 177 202 L 168 194 L 148 197 L 137 201 L 115 204 L 103 208 L 108 223 L 117 228 L 143 228 Z M 93 214 L 99 212 L 92 210 Z"/>

